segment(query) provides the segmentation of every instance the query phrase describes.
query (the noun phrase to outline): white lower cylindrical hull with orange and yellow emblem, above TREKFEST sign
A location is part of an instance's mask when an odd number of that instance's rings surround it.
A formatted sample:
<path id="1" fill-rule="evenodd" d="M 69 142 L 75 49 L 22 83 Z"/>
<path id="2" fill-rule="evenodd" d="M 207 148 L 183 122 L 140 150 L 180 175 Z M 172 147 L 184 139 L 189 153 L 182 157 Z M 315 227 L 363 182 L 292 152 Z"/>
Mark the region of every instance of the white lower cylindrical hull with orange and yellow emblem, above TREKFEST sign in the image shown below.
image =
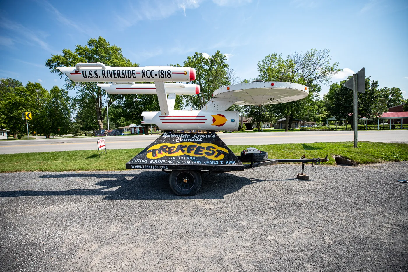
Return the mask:
<path id="1" fill-rule="evenodd" d="M 161 130 L 238 130 L 238 111 L 143 111 L 142 124 L 155 124 Z"/>

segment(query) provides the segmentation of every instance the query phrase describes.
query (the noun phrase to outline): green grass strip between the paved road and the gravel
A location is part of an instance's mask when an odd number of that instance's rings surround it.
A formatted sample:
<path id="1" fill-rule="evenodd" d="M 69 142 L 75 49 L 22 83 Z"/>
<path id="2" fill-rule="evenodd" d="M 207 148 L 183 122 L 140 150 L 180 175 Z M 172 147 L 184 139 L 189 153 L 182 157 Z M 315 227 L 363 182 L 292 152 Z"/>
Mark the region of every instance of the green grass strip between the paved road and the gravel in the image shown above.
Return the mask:
<path id="1" fill-rule="evenodd" d="M 269 158 L 306 158 L 341 155 L 355 163 L 377 163 L 384 161 L 408 161 L 408 144 L 353 142 L 251 145 L 268 152 Z M 240 154 L 244 145 L 230 145 L 235 154 Z M 43 153 L 0 154 L 0 172 L 16 171 L 84 171 L 84 170 L 124 170 L 125 163 L 142 151 L 136 149 L 111 149 L 98 157 L 98 151 L 78 150 Z"/>

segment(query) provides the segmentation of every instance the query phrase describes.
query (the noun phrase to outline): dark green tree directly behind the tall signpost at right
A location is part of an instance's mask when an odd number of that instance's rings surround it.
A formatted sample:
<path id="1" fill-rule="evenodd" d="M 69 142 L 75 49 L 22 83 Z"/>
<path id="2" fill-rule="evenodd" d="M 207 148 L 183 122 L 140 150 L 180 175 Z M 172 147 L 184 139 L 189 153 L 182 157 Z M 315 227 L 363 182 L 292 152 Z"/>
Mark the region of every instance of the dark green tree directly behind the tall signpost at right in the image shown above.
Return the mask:
<path id="1" fill-rule="evenodd" d="M 330 85 L 329 91 L 324 95 L 325 105 L 332 116 L 338 119 L 353 121 L 353 90 L 343 86 L 346 80 Z M 357 96 L 358 118 L 377 118 L 387 110 L 387 105 L 382 99 L 378 89 L 378 81 L 366 77 L 366 92 Z"/>

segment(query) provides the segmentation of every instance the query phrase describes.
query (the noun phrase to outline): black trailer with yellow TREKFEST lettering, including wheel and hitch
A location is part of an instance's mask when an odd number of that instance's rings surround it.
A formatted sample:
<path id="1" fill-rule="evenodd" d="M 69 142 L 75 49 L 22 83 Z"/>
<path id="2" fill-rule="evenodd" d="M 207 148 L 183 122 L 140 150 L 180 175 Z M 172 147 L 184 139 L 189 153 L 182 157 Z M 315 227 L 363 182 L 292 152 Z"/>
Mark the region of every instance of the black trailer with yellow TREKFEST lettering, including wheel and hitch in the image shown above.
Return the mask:
<path id="1" fill-rule="evenodd" d="M 191 196 L 200 190 L 201 174 L 224 173 L 277 163 L 321 163 L 326 158 L 268 159 L 266 152 L 235 156 L 214 131 L 207 133 L 165 132 L 126 163 L 126 169 L 161 169 L 170 174 L 169 184 L 179 196 Z M 246 164 L 244 164 L 246 163 Z"/>

